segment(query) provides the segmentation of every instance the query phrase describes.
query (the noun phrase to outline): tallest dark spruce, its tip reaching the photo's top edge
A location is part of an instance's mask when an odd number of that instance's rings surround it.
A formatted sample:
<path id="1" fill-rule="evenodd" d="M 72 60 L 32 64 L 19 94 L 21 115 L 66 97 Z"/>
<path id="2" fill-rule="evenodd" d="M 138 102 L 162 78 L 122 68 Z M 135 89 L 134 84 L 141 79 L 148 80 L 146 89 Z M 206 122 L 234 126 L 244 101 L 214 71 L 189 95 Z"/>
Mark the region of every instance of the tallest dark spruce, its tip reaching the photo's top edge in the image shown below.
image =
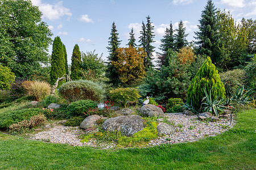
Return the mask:
<path id="1" fill-rule="evenodd" d="M 201 14 L 199 20 L 200 25 L 197 25 L 199 31 L 195 32 L 197 54 L 206 54 L 210 56 L 213 63 L 218 63 L 223 58 L 221 53 L 221 43 L 218 35 L 216 8 L 212 0 L 207 1 L 207 5 Z"/>

